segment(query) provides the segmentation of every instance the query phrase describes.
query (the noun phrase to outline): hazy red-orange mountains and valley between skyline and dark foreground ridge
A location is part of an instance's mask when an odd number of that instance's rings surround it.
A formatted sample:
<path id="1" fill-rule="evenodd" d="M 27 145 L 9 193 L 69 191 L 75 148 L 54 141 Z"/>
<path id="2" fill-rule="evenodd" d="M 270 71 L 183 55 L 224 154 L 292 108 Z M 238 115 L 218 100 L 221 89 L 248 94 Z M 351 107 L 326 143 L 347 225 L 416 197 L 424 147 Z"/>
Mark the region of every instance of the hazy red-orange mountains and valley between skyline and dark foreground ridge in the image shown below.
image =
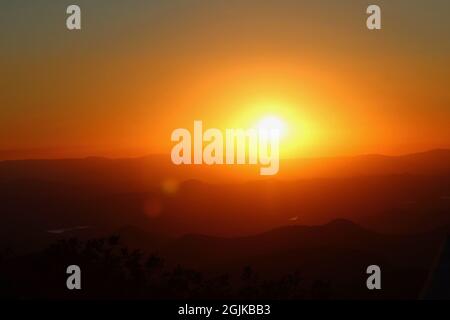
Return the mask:
<path id="1" fill-rule="evenodd" d="M 388 233 L 450 224 L 449 150 L 296 161 L 329 161 L 329 167 L 321 166 L 329 171 L 334 166 L 334 177 L 245 182 L 216 173 L 209 181 L 207 172 L 216 168 L 176 167 L 163 156 L 3 161 L 0 229 L 13 236 L 74 226 L 90 226 L 80 232 L 95 233 L 136 225 L 171 236 L 239 236 L 336 218 Z M 312 174 L 306 168 L 299 164 L 296 170 Z M 204 180 L 193 179 L 197 173 Z M 164 187 L 168 180 L 170 190 Z"/>

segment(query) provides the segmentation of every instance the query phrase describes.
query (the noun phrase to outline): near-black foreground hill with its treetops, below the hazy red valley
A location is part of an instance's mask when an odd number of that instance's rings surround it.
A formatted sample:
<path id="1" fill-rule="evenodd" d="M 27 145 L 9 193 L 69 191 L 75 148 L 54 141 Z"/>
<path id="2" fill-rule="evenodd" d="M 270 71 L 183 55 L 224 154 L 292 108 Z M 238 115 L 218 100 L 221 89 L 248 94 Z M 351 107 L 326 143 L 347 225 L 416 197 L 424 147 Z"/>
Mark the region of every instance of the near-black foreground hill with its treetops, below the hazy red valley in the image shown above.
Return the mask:
<path id="1" fill-rule="evenodd" d="M 125 237 L 68 238 L 33 254 L 5 252 L 0 259 L 0 295 L 412 299 L 422 294 L 445 239 L 442 233 L 383 235 L 346 220 L 239 238 L 186 235 L 158 242 L 136 229 L 118 233 Z M 65 288 L 65 269 L 71 264 L 82 269 L 82 291 Z M 379 291 L 366 287 L 366 269 L 373 264 L 382 271 Z"/>

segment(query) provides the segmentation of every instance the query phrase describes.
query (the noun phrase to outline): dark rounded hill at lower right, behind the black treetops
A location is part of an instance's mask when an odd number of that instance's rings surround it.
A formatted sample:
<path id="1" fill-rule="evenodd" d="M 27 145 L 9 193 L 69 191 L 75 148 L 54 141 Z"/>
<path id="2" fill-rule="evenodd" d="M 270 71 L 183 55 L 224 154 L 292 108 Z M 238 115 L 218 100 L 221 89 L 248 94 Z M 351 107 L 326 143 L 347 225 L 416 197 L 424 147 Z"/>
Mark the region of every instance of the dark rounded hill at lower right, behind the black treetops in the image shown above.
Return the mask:
<path id="1" fill-rule="evenodd" d="M 239 238 L 186 235 L 163 249 L 167 261 L 204 272 L 256 266 L 268 279 L 299 270 L 305 279 L 333 284 L 340 298 L 417 298 L 445 234 L 384 235 L 347 220 L 320 226 L 280 227 Z M 382 266 L 384 292 L 365 288 L 365 269 Z"/>

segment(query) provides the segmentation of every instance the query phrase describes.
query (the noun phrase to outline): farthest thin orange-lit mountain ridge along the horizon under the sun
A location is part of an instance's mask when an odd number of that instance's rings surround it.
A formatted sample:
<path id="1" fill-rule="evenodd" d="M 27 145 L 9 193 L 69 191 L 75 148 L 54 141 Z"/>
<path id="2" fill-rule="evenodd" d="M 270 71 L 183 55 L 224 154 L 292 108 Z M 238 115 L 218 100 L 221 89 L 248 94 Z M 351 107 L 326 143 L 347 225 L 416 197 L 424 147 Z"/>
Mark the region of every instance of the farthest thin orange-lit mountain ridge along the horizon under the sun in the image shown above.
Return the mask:
<path id="1" fill-rule="evenodd" d="M 259 166 L 195 166 L 172 164 L 169 155 L 107 159 L 90 157 L 61 160 L 0 161 L 0 182 L 43 180 L 70 184 L 90 184 L 119 190 L 148 190 L 167 179 L 197 179 L 206 183 L 242 182 L 267 179 Z M 354 177 L 367 175 L 447 175 L 450 150 L 440 149 L 404 156 L 363 155 L 340 158 L 281 160 L 274 179 Z"/>

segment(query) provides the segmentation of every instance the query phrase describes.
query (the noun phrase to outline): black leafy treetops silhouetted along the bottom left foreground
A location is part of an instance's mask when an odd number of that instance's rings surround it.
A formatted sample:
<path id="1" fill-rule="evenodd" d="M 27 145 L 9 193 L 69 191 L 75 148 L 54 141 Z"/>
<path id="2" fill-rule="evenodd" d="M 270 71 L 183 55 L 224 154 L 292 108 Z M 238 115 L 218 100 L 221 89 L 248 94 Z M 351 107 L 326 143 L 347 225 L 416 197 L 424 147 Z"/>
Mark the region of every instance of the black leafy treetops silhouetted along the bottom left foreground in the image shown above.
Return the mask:
<path id="1" fill-rule="evenodd" d="M 79 265 L 80 291 L 65 287 L 66 268 Z M 39 253 L 0 255 L 0 296 L 58 299 L 299 299 L 329 298 L 331 284 L 309 289 L 299 271 L 268 279 L 246 265 L 237 275 L 167 265 L 156 253 L 130 250 L 119 236 L 59 240 Z"/>

